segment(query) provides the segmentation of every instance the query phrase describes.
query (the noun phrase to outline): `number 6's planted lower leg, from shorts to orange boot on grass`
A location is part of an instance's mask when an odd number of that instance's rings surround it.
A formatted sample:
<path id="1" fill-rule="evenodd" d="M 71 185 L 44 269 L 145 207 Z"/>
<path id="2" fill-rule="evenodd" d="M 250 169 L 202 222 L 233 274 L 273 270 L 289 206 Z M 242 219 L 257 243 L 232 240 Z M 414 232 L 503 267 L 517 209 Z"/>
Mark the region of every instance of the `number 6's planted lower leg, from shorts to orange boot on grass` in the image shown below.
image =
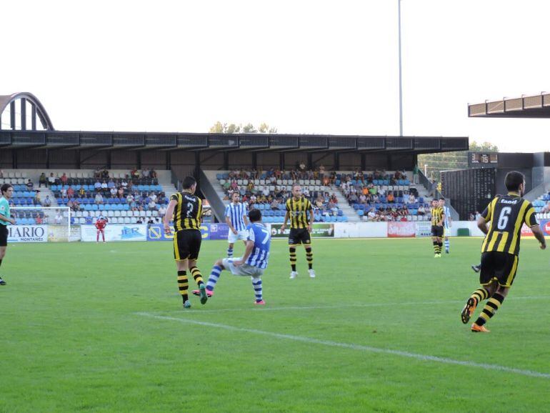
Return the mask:
<path id="1" fill-rule="evenodd" d="M 488 332 L 489 330 L 484 328 L 484 324 L 488 322 L 498 309 L 501 307 L 504 298 L 508 295 L 509 289 L 516 277 L 516 271 L 518 267 L 518 257 L 512 254 L 500 253 L 497 256 L 496 264 L 496 278 L 499 282 L 499 287 L 494 294 L 491 294 L 491 298 L 486 302 L 485 307 L 481 310 L 476 322 L 472 324 L 472 332 Z"/>

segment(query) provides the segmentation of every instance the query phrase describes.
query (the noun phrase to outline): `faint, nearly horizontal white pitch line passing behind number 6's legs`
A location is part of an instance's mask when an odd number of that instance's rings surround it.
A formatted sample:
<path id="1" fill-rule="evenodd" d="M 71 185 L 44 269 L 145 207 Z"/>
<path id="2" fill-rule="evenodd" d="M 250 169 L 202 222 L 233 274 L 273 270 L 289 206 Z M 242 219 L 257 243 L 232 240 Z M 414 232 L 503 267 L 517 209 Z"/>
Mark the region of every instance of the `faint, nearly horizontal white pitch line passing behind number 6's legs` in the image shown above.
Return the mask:
<path id="1" fill-rule="evenodd" d="M 516 299 L 550 299 L 550 296 L 533 296 L 533 297 L 509 297 L 506 301 L 514 301 Z M 296 311 L 296 310 L 311 310 L 311 309 L 345 309 L 345 308 L 367 308 L 367 307 L 398 307 L 398 306 L 425 306 L 425 305 L 438 305 L 438 304 L 464 304 L 464 300 L 449 300 L 449 301 L 425 301 L 425 302 L 389 302 L 389 303 L 363 303 L 363 304 L 339 304 L 339 305 L 317 305 L 317 306 L 289 306 L 289 307 L 246 307 L 246 308 L 231 308 L 231 309 L 187 309 L 186 312 L 200 314 L 200 313 L 212 313 L 212 312 L 267 312 L 267 311 Z M 164 311 L 161 314 L 181 313 L 180 310 Z"/>

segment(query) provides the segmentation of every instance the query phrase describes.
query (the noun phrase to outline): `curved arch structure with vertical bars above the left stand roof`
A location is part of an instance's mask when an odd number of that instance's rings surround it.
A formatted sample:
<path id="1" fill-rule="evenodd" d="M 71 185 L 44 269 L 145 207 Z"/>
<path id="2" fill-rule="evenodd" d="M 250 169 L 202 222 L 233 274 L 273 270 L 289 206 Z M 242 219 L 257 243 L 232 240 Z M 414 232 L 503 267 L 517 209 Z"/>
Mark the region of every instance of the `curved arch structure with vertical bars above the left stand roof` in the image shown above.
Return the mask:
<path id="1" fill-rule="evenodd" d="M 54 131 L 54 124 L 51 123 L 51 119 L 44 109 L 44 106 L 40 103 L 39 99 L 29 92 L 19 92 L 11 95 L 0 96 L 0 129 L 2 129 L 2 114 L 6 107 L 10 106 L 10 119 L 9 126 L 11 130 L 16 130 L 16 111 L 15 111 L 15 102 L 21 100 L 21 130 L 31 130 L 36 131 L 36 117 L 40 119 L 42 127 L 46 131 Z M 31 104 L 31 125 L 28 128 L 26 124 L 26 102 Z"/>

